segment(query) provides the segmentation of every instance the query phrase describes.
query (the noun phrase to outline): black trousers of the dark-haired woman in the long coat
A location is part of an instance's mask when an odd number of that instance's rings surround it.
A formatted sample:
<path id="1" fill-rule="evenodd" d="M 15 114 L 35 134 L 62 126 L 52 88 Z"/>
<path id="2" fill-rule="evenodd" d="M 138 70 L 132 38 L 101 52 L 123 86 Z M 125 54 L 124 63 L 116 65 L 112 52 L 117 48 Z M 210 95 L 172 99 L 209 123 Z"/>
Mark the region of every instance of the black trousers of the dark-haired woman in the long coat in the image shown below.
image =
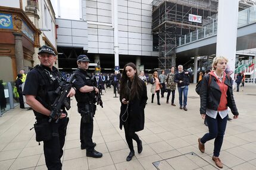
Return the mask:
<path id="1" fill-rule="evenodd" d="M 129 129 L 129 122 L 127 121 L 124 122 L 123 126 L 124 126 L 124 133 L 126 135 L 126 142 L 129 146 L 130 152 L 134 152 L 132 140 L 135 140 L 138 145 L 138 143 L 141 142 L 139 140 L 139 136 L 135 133 L 135 131 L 132 131 Z"/>

